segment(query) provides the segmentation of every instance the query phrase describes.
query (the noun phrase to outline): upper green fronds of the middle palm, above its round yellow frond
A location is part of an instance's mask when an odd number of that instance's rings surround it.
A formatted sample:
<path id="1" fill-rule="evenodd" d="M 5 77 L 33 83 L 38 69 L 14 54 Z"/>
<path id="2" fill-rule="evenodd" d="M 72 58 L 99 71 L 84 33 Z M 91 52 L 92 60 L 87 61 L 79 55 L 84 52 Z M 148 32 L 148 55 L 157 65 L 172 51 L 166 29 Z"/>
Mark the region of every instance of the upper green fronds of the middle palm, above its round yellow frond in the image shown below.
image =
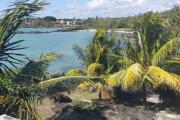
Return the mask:
<path id="1" fill-rule="evenodd" d="M 117 47 L 114 47 L 115 37 L 113 32 L 105 30 L 97 30 L 92 42 L 86 46 L 85 49 L 77 45 L 73 49 L 82 63 L 88 68 L 92 63 L 99 63 L 104 65 L 104 70 L 112 67 L 114 60 L 110 59 L 110 54 Z"/>

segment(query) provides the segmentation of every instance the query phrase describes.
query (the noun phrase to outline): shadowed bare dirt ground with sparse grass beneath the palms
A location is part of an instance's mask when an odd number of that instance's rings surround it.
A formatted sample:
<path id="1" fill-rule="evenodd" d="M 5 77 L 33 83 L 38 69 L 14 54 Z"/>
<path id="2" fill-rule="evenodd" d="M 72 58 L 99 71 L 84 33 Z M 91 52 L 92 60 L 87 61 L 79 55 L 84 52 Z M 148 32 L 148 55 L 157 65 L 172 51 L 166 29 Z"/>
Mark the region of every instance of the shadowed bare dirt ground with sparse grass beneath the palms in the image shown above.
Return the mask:
<path id="1" fill-rule="evenodd" d="M 166 110 L 159 104 L 136 104 L 128 101 L 97 100 L 97 93 L 72 93 L 72 103 L 45 99 L 37 108 L 43 120 L 156 120 L 156 113 Z M 169 109 L 169 108 L 168 108 Z M 168 119 L 167 119 L 168 120 Z"/>

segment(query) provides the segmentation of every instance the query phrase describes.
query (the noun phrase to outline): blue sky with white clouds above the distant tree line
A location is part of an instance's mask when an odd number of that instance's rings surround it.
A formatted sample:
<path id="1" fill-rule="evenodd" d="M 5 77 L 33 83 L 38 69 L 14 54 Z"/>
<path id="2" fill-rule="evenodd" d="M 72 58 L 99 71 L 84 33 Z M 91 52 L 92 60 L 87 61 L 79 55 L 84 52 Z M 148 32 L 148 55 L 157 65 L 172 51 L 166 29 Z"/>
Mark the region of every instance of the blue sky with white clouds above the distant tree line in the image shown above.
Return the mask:
<path id="1" fill-rule="evenodd" d="M 7 9 L 10 2 L 16 0 L 0 0 L 0 11 Z M 147 11 L 165 11 L 180 0 L 46 0 L 50 3 L 36 16 L 55 16 L 57 18 L 88 17 L 127 17 Z"/>

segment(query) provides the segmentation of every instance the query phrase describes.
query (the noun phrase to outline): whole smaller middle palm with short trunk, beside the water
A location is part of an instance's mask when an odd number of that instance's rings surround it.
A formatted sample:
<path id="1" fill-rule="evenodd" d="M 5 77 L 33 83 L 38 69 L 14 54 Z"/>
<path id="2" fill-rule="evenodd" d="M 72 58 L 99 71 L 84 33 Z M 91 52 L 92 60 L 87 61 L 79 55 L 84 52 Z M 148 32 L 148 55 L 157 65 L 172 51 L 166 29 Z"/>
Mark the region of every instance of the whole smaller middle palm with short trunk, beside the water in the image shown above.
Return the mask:
<path id="1" fill-rule="evenodd" d="M 114 32 L 106 30 L 97 30 L 92 42 L 82 49 L 74 46 L 73 49 L 83 64 L 87 67 L 88 76 L 105 76 L 109 73 L 117 71 L 120 67 L 118 64 L 119 56 L 121 54 L 120 43 L 115 40 Z M 106 81 L 101 77 L 102 81 Z M 102 90 L 107 91 L 107 84 L 83 82 L 79 85 L 81 89 L 88 89 L 93 87 L 99 91 L 99 99 L 102 99 Z"/>

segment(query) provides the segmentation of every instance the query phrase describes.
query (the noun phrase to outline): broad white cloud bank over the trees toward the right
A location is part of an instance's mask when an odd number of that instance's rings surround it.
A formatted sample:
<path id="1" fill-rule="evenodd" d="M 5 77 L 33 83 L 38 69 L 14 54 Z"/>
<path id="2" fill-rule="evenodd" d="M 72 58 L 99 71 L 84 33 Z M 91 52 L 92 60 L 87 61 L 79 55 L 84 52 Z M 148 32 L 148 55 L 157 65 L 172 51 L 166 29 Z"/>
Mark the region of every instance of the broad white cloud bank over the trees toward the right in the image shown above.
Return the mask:
<path id="1" fill-rule="evenodd" d="M 164 11 L 180 4 L 180 0 L 89 0 L 83 5 L 74 1 L 60 11 L 60 17 L 123 17 L 147 11 Z"/>

